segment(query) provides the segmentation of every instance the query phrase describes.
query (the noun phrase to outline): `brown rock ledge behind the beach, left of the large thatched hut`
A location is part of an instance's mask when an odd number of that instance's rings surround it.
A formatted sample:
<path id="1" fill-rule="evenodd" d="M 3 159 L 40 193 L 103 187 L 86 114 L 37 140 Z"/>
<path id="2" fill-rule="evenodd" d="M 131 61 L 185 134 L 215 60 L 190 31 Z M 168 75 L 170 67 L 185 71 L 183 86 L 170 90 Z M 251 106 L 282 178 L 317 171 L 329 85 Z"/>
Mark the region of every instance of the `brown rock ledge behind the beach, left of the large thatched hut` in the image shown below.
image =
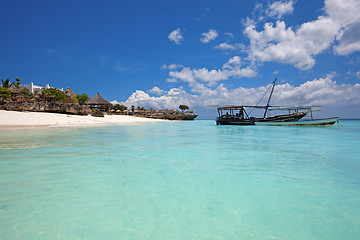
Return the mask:
<path id="1" fill-rule="evenodd" d="M 74 115 L 88 115 L 91 113 L 91 109 L 87 106 L 54 102 L 3 102 L 0 103 L 0 109 L 8 111 L 53 112 Z"/>

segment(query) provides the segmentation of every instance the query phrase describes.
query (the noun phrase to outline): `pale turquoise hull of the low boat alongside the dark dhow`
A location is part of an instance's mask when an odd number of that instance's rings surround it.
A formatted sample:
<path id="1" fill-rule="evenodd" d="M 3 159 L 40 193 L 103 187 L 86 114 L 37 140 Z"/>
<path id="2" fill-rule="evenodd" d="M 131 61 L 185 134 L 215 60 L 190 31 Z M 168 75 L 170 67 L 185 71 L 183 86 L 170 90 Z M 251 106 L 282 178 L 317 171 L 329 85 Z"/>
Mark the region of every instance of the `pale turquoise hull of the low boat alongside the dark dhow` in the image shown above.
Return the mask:
<path id="1" fill-rule="evenodd" d="M 255 122 L 258 126 L 332 126 L 339 120 L 338 117 L 294 122 Z"/>

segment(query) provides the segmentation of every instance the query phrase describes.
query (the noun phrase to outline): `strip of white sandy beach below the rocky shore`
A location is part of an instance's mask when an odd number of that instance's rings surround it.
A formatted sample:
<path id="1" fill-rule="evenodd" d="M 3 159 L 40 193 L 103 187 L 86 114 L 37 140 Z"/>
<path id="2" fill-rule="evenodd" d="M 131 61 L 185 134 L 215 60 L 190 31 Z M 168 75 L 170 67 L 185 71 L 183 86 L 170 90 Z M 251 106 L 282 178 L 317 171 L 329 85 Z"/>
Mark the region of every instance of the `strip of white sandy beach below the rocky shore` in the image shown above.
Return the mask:
<path id="1" fill-rule="evenodd" d="M 3 130 L 19 127 L 86 127 L 100 125 L 146 124 L 156 122 L 168 122 L 168 120 L 122 115 L 92 117 L 45 112 L 15 112 L 0 110 L 0 128 Z"/>

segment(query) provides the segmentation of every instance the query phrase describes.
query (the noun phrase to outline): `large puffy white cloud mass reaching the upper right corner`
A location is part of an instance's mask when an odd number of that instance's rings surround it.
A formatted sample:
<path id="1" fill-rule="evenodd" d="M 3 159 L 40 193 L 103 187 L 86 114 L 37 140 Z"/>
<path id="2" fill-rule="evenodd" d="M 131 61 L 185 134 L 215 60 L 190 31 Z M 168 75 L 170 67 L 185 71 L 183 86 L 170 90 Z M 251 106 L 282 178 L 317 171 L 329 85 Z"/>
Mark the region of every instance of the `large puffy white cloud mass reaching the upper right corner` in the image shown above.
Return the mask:
<path id="1" fill-rule="evenodd" d="M 265 23 L 257 31 L 248 20 L 244 34 L 250 39 L 249 59 L 254 63 L 279 62 L 292 64 L 303 70 L 315 65 L 315 56 L 329 49 L 340 55 L 360 50 L 360 1 L 325 0 L 325 14 L 298 28 L 285 27 L 285 22 Z"/>

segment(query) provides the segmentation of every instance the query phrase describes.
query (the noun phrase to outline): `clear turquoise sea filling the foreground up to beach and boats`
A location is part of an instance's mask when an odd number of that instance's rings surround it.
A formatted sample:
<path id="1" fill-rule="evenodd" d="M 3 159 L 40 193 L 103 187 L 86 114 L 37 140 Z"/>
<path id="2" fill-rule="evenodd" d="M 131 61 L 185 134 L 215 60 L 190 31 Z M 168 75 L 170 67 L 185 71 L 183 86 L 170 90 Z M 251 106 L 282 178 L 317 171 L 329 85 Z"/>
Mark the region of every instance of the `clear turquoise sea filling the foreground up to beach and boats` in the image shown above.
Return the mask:
<path id="1" fill-rule="evenodd" d="M 0 132 L 0 239 L 360 239 L 360 121 Z"/>

